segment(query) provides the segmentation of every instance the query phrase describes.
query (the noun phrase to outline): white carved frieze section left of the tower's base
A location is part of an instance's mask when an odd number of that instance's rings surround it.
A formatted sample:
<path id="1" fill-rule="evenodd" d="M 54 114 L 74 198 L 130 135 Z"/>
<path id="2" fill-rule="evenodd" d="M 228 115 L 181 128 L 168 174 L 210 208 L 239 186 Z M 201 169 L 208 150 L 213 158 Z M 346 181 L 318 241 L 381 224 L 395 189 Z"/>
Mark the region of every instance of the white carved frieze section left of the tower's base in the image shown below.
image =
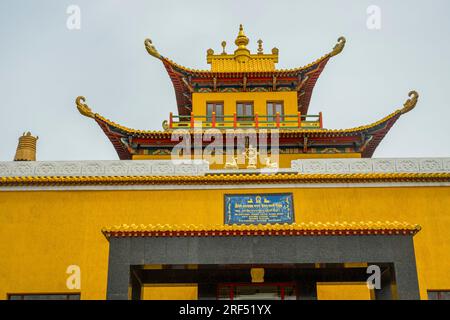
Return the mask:
<path id="1" fill-rule="evenodd" d="M 34 176 L 202 176 L 207 161 L 11 161 L 0 162 L 0 177 Z"/>

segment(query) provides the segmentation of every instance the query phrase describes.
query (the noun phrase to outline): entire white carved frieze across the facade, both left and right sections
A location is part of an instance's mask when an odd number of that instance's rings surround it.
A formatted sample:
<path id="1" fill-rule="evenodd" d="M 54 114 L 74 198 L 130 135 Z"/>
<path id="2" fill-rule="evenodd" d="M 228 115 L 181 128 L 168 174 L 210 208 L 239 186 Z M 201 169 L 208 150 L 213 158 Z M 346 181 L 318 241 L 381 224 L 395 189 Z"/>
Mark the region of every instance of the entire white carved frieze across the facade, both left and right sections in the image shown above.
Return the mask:
<path id="1" fill-rule="evenodd" d="M 11 161 L 0 162 L 0 177 L 36 176 L 202 176 L 245 169 L 210 170 L 205 160 Z M 450 173 L 450 158 L 340 158 L 293 160 L 278 172 L 315 173 Z M 263 172 L 261 172 L 263 173 Z M 275 172 L 276 173 L 276 172 Z"/>

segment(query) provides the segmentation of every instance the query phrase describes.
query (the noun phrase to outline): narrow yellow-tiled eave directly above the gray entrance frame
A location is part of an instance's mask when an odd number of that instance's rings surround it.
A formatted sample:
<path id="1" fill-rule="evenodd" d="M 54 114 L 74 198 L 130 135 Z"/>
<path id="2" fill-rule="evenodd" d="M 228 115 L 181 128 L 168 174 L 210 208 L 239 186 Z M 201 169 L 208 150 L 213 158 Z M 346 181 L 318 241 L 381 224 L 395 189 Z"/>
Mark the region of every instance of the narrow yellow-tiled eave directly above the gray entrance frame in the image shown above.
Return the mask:
<path id="1" fill-rule="evenodd" d="M 355 236 L 415 235 L 421 227 L 407 222 L 334 222 L 259 225 L 119 225 L 105 227 L 110 237 L 219 237 L 219 236 Z"/>

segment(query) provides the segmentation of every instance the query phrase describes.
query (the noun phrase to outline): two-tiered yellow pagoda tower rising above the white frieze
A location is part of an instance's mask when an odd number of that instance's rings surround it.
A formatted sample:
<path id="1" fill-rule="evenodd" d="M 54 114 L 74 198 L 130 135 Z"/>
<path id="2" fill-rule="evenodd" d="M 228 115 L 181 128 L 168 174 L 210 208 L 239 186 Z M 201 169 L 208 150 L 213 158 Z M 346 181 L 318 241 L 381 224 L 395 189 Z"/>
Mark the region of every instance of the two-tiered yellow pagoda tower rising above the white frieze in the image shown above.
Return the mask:
<path id="1" fill-rule="evenodd" d="M 328 61 L 343 50 L 345 38 L 340 37 L 333 49 L 321 58 L 294 69 L 276 68 L 277 48 L 266 54 L 259 40 L 258 52 L 253 54 L 247 48 L 248 43 L 241 25 L 233 53 L 228 54 L 226 43 L 222 42 L 221 53 L 207 50 L 206 60 L 211 70 L 195 70 L 162 56 L 151 40 L 145 40 L 148 53 L 161 60 L 175 89 L 178 114 L 169 115 L 169 119 L 163 122 L 163 131 L 134 130 L 118 125 L 94 114 L 84 97 L 77 98 L 78 109 L 83 115 L 95 119 L 120 159 L 171 159 L 178 143 L 173 139 L 177 130 L 187 130 L 189 138 L 194 141 L 194 131 L 203 135 L 209 129 L 210 135 L 216 138 L 216 154 L 226 154 L 227 133 L 245 140 L 245 143 L 234 147 L 234 156 L 245 153 L 245 148 L 251 144 L 269 149 L 267 155 L 271 152 L 270 141 L 274 133 L 278 141 L 279 163 L 277 161 L 276 164 L 289 168 L 291 161 L 296 159 L 371 157 L 397 119 L 416 105 L 418 94 L 411 91 L 410 99 L 401 109 L 379 121 L 357 128 L 326 129 L 321 112 L 308 113 L 309 102 L 316 81 Z M 222 137 L 212 133 L 212 129 L 216 129 L 216 133 L 219 131 Z M 261 138 L 265 139 L 264 143 Z M 208 144 L 210 141 L 205 141 L 197 154 L 203 154 Z M 198 158 L 195 157 L 193 143 L 188 151 L 192 155 L 190 158 Z M 220 169 L 227 163 L 231 168 L 248 167 L 248 161 L 231 159 L 236 163 L 230 163 L 217 158 L 210 163 L 212 168 Z M 274 164 L 266 158 L 259 157 L 256 167 L 273 167 Z"/>

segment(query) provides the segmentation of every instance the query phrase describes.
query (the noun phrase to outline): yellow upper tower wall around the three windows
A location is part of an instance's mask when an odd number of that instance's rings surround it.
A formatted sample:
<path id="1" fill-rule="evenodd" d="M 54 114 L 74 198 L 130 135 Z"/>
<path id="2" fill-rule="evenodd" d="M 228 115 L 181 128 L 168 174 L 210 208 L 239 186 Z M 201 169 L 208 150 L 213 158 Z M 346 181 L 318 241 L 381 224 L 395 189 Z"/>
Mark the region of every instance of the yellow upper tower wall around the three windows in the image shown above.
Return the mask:
<path id="1" fill-rule="evenodd" d="M 213 92 L 213 93 L 193 93 L 192 112 L 194 115 L 206 115 L 206 102 L 224 102 L 224 115 L 233 115 L 236 112 L 236 102 L 253 101 L 254 113 L 259 115 L 267 114 L 267 101 L 283 101 L 284 114 L 296 115 L 297 92 Z"/>

